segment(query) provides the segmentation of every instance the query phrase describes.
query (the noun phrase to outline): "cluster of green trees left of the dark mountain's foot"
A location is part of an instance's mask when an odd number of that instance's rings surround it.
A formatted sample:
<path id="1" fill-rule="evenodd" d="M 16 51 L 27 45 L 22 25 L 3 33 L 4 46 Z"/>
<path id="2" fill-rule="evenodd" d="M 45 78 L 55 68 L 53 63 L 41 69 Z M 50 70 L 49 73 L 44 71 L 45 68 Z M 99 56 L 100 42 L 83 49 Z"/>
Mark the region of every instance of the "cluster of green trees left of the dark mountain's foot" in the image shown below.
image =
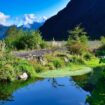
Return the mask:
<path id="1" fill-rule="evenodd" d="M 16 26 L 8 29 L 5 42 L 7 48 L 17 50 L 38 49 L 47 46 L 39 31 L 23 31 L 17 29 Z"/>

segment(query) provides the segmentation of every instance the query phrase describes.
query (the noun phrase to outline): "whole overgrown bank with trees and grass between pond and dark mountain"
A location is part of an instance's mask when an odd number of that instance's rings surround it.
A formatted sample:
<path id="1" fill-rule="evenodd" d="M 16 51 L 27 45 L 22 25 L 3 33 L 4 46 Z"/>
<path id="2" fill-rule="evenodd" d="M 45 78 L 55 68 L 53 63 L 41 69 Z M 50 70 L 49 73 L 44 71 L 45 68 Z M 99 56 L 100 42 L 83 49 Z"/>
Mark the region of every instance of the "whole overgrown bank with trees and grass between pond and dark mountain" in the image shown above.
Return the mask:
<path id="1" fill-rule="evenodd" d="M 0 41 L 0 81 L 16 81 L 24 77 L 29 79 L 82 75 L 89 73 L 97 66 L 105 65 L 100 63 L 100 59 L 96 57 L 98 53 L 93 51 L 100 47 L 99 43 L 94 42 L 96 46 L 90 48 L 93 44 L 89 44 L 88 33 L 83 28 L 77 26 L 68 34 L 69 38 L 66 43 L 56 43 L 53 40 L 50 45 L 43 40 L 39 31 L 24 31 L 15 26 L 11 27 L 7 31 L 7 37 Z M 105 38 L 102 38 L 102 42 L 104 41 Z M 62 46 L 67 51 L 54 50 L 50 54 L 47 51 L 48 53 L 43 55 L 40 51 L 37 54 L 30 52 L 43 48 L 47 50 L 49 47 L 51 50 L 53 48 L 59 49 Z M 102 48 L 104 51 L 105 47 Z M 20 50 L 22 52 L 19 52 Z M 19 54 L 22 53 L 21 56 L 11 54 L 14 51 L 19 52 Z M 24 56 L 23 51 L 26 53 L 29 51 L 28 58 L 27 55 Z"/>

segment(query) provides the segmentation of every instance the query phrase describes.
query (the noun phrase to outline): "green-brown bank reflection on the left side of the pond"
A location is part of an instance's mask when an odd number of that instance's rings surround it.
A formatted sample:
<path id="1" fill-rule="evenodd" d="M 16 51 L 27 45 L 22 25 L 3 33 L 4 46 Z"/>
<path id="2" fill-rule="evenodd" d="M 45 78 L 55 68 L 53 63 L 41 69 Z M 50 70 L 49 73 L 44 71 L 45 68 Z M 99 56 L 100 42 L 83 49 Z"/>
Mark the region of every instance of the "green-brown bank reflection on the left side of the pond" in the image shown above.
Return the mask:
<path id="1" fill-rule="evenodd" d="M 27 81 L 16 81 L 13 83 L 0 83 L 0 103 L 14 101 L 14 97 L 12 96 L 14 91 L 35 81 L 35 79 L 31 79 Z"/>

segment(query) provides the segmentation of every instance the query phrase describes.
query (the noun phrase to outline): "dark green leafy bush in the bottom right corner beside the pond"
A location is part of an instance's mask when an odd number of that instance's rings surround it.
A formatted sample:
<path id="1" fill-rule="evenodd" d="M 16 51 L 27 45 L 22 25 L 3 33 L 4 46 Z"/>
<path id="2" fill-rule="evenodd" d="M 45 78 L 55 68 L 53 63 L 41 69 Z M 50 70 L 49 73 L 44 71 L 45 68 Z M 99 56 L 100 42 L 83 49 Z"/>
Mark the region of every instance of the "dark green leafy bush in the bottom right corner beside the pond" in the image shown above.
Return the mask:
<path id="1" fill-rule="evenodd" d="M 87 97 L 87 102 L 90 105 L 105 105 L 105 79 L 97 82 L 91 96 Z"/>

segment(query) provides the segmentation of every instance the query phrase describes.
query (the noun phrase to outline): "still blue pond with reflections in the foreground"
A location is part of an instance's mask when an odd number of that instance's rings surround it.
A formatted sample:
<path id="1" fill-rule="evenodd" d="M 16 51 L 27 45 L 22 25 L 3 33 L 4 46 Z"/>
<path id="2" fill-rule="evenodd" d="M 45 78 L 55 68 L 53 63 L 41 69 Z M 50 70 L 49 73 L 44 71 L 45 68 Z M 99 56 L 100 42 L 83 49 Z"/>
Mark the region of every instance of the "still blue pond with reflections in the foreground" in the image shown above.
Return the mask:
<path id="1" fill-rule="evenodd" d="M 87 75 L 1 84 L 0 105 L 90 105 L 86 81 Z"/>

